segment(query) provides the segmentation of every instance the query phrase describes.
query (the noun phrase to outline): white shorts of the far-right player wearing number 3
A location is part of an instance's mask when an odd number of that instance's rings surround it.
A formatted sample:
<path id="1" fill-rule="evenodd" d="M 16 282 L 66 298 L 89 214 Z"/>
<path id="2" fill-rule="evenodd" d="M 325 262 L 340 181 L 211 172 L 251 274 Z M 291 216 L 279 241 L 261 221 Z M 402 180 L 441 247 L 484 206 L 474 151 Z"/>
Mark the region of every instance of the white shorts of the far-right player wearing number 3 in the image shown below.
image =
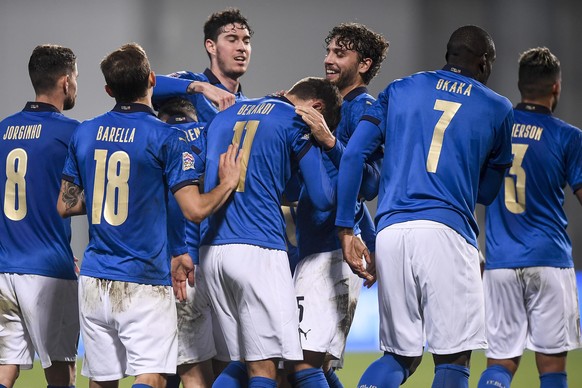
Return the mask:
<path id="1" fill-rule="evenodd" d="M 514 358 L 524 348 L 556 354 L 582 346 L 574 268 L 490 269 L 483 282 L 487 357 Z"/>

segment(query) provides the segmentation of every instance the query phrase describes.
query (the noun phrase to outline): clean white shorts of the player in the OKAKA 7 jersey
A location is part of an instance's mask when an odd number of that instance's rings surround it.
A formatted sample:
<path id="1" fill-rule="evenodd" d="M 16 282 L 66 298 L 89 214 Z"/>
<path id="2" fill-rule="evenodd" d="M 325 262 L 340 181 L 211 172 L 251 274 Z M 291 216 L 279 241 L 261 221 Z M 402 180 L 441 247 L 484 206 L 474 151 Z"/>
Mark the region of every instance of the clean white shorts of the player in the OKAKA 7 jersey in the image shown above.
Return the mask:
<path id="1" fill-rule="evenodd" d="M 406 357 L 485 349 L 479 252 L 450 227 L 407 221 L 376 237 L 380 348 Z M 424 336 L 426 333 L 426 337 Z"/>

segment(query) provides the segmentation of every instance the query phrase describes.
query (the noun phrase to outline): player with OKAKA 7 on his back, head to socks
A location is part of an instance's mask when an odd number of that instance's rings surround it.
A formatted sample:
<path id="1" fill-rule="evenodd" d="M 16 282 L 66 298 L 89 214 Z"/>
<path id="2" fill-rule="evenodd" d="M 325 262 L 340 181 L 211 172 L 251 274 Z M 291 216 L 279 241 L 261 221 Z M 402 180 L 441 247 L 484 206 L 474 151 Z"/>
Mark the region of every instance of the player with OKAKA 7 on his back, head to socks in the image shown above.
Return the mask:
<path id="1" fill-rule="evenodd" d="M 338 178 L 336 225 L 360 276 L 375 264 L 384 356 L 360 387 L 397 387 L 433 354 L 433 387 L 467 387 L 472 349 L 486 346 L 477 202 L 495 198 L 511 164 L 511 103 L 485 86 L 495 60 L 477 26 L 453 32 L 442 70 L 396 80 L 350 139 Z M 385 145 L 372 261 L 353 235 L 363 161 Z M 426 336 L 425 336 L 426 334 Z"/>

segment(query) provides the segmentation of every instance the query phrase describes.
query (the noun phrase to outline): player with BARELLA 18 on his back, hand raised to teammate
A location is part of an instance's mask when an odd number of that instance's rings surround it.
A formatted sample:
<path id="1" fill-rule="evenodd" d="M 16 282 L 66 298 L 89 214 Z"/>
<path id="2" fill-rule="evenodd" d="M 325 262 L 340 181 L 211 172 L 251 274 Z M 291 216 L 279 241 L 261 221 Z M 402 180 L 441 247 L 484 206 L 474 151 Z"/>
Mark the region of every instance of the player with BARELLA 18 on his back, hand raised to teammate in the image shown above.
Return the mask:
<path id="1" fill-rule="evenodd" d="M 144 50 L 126 44 L 101 62 L 112 111 L 79 125 L 69 145 L 57 202 L 63 217 L 87 213 L 89 244 L 79 280 L 82 373 L 92 387 L 165 387 L 176 372 L 176 306 L 193 284 L 192 262 L 172 259 L 166 197 L 200 222 L 224 204 L 238 184 L 236 146 L 220 156 L 212 191 L 200 194 L 194 157 L 179 130 L 151 107 L 155 75 Z M 170 268 L 172 278 L 170 280 Z M 160 319 L 163 317 L 163 319 Z"/>

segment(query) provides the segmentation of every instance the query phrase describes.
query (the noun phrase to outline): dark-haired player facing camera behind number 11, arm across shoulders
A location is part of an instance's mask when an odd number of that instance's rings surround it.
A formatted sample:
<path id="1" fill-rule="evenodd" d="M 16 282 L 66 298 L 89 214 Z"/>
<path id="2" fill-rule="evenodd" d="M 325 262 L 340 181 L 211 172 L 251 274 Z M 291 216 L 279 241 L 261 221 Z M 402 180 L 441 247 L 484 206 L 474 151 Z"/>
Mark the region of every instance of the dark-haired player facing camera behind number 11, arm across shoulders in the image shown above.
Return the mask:
<path id="1" fill-rule="evenodd" d="M 238 9 L 213 13 L 204 24 L 204 47 L 210 68 L 203 73 L 179 71 L 158 76 L 154 103 L 172 96 L 187 97 L 202 122 L 209 122 L 218 111 L 244 100 L 239 78 L 251 59 L 253 30 Z"/>

